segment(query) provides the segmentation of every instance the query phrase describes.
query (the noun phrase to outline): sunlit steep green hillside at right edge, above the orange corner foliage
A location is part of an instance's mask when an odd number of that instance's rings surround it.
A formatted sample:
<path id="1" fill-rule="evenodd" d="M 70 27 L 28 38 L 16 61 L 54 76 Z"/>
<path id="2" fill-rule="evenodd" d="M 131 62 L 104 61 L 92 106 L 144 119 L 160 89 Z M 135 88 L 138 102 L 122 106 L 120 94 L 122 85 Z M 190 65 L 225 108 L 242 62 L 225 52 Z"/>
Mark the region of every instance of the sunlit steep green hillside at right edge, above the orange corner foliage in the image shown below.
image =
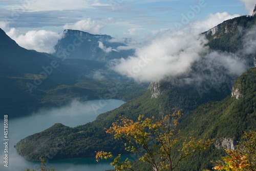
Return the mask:
<path id="1" fill-rule="evenodd" d="M 238 91 L 234 93 L 236 89 Z M 241 96 L 236 99 L 238 92 Z M 255 67 L 239 77 L 234 83 L 232 94 L 221 102 L 209 102 L 200 106 L 182 121 L 180 129 L 184 135 L 198 139 L 214 138 L 216 142 L 211 149 L 184 162 L 179 170 L 211 169 L 210 161 L 219 158 L 224 146 L 230 148 L 237 144 L 244 131 L 256 130 Z M 217 146 L 220 150 L 216 149 Z"/>

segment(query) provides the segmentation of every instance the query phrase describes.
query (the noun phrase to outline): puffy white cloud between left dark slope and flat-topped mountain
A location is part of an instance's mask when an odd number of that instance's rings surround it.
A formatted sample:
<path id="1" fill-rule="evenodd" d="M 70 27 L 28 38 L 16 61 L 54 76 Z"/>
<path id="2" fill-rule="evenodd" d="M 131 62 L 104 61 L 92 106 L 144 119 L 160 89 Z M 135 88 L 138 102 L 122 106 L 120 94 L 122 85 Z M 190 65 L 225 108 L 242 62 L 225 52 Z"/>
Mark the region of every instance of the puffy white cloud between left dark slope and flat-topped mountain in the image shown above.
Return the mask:
<path id="1" fill-rule="evenodd" d="M 46 30 L 28 31 L 25 35 L 19 35 L 15 28 L 7 32 L 7 35 L 24 48 L 45 53 L 54 53 L 54 45 L 62 37 L 62 34 Z"/>

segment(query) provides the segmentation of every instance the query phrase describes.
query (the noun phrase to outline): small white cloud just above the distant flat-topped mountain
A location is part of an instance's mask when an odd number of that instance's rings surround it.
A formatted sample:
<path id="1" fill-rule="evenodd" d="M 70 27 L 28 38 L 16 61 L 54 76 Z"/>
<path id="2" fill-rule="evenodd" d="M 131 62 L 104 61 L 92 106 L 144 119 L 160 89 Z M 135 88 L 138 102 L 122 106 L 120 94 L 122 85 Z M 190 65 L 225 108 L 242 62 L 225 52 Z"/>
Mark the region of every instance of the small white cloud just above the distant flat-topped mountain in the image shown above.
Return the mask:
<path id="1" fill-rule="evenodd" d="M 91 18 L 83 19 L 75 22 L 73 25 L 65 25 L 63 29 L 80 30 L 91 34 L 101 34 L 100 31 L 106 25 L 112 22 L 112 18 L 102 20 L 93 20 Z"/>

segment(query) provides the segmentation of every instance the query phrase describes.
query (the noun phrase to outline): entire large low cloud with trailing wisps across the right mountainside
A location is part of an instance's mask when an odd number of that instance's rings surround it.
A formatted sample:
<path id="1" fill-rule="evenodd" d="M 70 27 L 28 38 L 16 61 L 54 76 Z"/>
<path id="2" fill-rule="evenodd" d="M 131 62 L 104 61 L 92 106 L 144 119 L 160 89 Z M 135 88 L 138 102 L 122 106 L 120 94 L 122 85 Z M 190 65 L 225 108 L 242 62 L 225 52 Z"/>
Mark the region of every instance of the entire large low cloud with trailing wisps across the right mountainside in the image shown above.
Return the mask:
<path id="1" fill-rule="evenodd" d="M 243 61 L 235 55 L 209 50 L 206 46 L 208 40 L 201 35 L 224 20 L 237 16 L 210 14 L 205 21 L 190 23 L 181 31 L 159 33 L 146 45 L 136 48 L 134 56 L 113 61 L 112 69 L 138 82 L 179 77 L 187 83 L 195 83 L 204 79 L 204 76 L 197 75 L 195 68 L 211 71 L 218 68 L 239 76 L 246 70 Z M 216 24 L 213 22 L 215 18 L 218 18 Z"/>

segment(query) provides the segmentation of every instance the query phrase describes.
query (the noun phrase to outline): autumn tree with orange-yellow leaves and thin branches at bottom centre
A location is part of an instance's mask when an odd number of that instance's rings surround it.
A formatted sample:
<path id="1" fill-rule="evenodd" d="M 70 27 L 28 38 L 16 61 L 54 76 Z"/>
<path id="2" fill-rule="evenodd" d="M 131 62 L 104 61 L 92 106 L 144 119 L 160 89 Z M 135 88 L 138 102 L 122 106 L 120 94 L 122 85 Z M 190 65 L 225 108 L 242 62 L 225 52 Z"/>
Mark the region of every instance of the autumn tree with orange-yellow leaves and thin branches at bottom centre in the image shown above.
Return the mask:
<path id="1" fill-rule="evenodd" d="M 124 140 L 125 150 L 139 155 L 139 160 L 150 163 L 154 170 L 175 170 L 182 160 L 193 155 L 196 150 L 209 148 L 213 141 L 198 141 L 193 137 L 181 136 L 177 127 L 182 115 L 180 110 L 169 110 L 166 115 L 159 117 L 144 118 L 139 115 L 138 121 L 122 117 L 106 129 L 106 133 Z M 174 151 L 179 141 L 182 141 L 182 148 Z M 173 154 L 179 155 L 178 159 L 174 160 Z M 120 155 L 114 159 L 111 152 L 97 152 L 97 161 L 103 158 L 111 160 L 116 170 L 133 170 L 129 158 L 120 162 Z"/>

